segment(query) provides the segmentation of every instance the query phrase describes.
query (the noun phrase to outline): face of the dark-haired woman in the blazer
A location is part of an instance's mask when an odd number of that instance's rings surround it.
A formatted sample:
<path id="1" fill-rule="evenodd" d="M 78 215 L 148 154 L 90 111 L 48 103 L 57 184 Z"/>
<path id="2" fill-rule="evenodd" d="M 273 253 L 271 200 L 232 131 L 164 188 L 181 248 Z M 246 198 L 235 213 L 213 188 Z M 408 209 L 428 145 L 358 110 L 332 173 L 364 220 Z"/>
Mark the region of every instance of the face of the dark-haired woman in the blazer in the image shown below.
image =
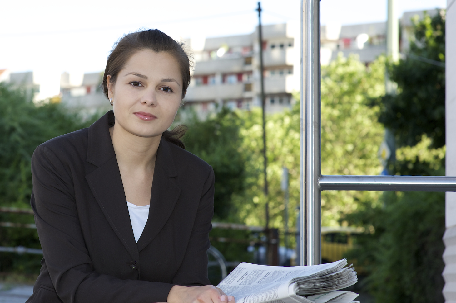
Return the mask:
<path id="1" fill-rule="evenodd" d="M 169 54 L 143 50 L 130 57 L 115 84 L 107 76 L 115 126 L 140 137 L 161 136 L 181 104 L 182 77 Z"/>

